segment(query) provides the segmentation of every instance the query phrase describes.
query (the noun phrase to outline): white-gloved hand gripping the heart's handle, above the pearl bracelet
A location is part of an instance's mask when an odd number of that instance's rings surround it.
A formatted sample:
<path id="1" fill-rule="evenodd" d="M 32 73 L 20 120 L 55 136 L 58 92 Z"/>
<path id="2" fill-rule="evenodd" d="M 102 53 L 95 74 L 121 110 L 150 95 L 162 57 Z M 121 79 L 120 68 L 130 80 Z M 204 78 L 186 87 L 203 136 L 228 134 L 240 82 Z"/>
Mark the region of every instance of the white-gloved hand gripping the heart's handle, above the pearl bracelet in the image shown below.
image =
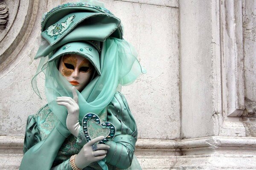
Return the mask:
<path id="1" fill-rule="evenodd" d="M 93 151 L 92 145 L 103 140 L 104 136 L 99 136 L 91 141 L 89 141 L 87 144 L 84 144 L 83 148 L 80 150 L 80 152 L 75 157 L 75 164 L 76 167 L 79 169 L 82 169 L 84 167 L 87 167 L 89 164 L 95 161 L 100 161 L 105 158 L 107 154 L 107 150 L 109 150 L 109 146 L 106 144 L 96 144 L 97 150 Z"/>

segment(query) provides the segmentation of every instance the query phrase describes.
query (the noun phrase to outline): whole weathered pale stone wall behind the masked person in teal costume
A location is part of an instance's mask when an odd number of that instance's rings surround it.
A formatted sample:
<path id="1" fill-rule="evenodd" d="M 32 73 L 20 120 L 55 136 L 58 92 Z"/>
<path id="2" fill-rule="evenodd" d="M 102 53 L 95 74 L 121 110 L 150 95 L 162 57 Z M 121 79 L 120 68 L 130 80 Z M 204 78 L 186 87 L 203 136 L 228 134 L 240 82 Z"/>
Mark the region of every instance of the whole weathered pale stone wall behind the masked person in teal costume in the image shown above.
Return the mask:
<path id="1" fill-rule="evenodd" d="M 43 99 L 32 90 L 33 58 L 41 16 L 60 1 L 0 2 L 8 9 L 0 25 L 0 169 L 12 170 L 23 156 L 27 116 L 46 103 L 43 75 Z M 122 88 L 143 169 L 256 169 L 256 1 L 102 2 L 147 70 Z"/>

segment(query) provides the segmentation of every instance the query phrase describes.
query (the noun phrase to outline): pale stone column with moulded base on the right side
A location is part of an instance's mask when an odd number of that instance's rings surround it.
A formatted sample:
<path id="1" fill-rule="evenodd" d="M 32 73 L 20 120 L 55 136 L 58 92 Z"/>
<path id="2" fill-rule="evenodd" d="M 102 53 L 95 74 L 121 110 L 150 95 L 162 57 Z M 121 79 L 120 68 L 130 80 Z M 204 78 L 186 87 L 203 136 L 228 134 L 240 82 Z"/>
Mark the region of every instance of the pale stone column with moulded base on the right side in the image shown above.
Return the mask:
<path id="1" fill-rule="evenodd" d="M 182 156 L 174 168 L 255 169 L 255 2 L 180 0 Z"/>

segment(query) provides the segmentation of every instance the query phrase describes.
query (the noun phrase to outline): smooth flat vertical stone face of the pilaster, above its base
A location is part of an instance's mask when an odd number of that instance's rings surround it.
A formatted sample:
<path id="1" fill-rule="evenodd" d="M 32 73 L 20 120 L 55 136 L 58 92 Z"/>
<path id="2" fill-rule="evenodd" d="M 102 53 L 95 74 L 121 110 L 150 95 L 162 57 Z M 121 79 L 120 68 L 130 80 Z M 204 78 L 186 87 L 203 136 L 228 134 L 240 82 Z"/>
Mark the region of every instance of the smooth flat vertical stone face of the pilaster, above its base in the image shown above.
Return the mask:
<path id="1" fill-rule="evenodd" d="M 218 6 L 218 1 L 180 1 L 183 138 L 218 134 L 222 123 Z"/>

